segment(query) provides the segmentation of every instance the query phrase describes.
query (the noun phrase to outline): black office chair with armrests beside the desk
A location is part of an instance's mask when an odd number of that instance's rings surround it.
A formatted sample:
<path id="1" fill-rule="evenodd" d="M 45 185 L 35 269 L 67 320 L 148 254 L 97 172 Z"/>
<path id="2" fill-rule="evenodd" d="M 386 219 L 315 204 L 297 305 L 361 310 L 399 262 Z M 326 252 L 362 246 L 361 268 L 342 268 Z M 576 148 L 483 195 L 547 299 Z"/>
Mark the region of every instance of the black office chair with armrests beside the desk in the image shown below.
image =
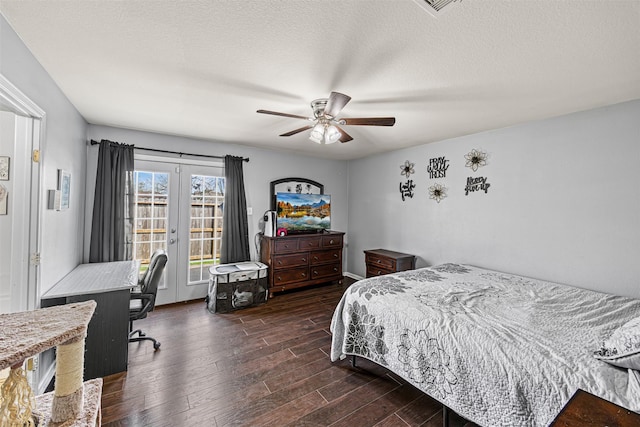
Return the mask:
<path id="1" fill-rule="evenodd" d="M 129 342 L 149 340 L 153 341 L 155 350 L 160 348 L 160 343 L 154 338 L 146 336 L 141 329 L 133 330 L 133 321 L 144 319 L 147 313 L 153 311 L 156 305 L 156 294 L 158 293 L 158 283 L 165 265 L 167 264 L 167 253 L 163 249 L 158 249 L 151 256 L 149 268 L 138 281 L 139 289 L 131 292 L 129 302 Z M 136 337 L 135 335 L 138 334 Z"/>

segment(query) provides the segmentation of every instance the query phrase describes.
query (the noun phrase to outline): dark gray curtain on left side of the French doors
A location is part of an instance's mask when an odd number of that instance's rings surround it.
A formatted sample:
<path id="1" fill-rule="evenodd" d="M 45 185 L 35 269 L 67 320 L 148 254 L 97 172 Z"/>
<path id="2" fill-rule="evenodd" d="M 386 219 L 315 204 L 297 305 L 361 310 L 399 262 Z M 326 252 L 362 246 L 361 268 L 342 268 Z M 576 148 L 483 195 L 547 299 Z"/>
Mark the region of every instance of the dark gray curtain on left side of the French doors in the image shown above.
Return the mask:
<path id="1" fill-rule="evenodd" d="M 133 145 L 100 141 L 89 262 L 131 259 Z"/>

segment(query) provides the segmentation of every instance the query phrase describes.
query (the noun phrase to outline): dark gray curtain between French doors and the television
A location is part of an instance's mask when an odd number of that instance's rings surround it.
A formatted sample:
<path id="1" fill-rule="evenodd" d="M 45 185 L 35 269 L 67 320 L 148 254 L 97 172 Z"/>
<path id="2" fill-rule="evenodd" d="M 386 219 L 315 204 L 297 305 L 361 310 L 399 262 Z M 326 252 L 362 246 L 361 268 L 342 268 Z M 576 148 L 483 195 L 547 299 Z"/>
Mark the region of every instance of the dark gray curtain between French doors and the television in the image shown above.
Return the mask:
<path id="1" fill-rule="evenodd" d="M 249 222 L 244 193 L 242 157 L 224 158 L 224 212 L 220 263 L 249 261 Z"/>

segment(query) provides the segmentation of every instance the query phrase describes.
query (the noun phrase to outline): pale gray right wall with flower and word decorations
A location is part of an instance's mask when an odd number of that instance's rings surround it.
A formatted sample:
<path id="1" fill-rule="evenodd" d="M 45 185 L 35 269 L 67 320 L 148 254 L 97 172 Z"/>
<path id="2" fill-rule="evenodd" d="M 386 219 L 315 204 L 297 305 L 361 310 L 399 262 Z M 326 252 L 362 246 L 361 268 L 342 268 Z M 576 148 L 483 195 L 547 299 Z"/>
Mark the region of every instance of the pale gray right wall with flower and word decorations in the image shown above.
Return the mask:
<path id="1" fill-rule="evenodd" d="M 428 129 L 426 130 L 428 131 Z M 472 149 L 489 155 L 477 173 Z M 445 156 L 444 179 L 429 179 Z M 400 165 L 415 162 L 401 200 Z M 365 249 L 416 254 L 418 267 L 461 262 L 640 297 L 640 101 L 426 144 L 349 164 L 349 271 Z M 468 176 L 488 193 L 464 194 Z M 448 197 L 429 199 L 434 183 Z"/>

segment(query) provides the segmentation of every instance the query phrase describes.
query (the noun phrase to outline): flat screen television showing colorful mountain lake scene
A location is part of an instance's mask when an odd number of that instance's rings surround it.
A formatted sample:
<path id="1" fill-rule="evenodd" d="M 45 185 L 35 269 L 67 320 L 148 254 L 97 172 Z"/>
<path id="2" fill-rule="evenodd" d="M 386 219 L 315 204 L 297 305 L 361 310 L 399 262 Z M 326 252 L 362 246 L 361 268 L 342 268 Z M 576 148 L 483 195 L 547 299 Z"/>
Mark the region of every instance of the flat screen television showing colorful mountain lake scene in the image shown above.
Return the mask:
<path id="1" fill-rule="evenodd" d="M 331 228 L 329 194 L 276 193 L 276 229 L 286 234 L 321 233 Z M 278 232 L 280 234 L 280 232 Z"/>

